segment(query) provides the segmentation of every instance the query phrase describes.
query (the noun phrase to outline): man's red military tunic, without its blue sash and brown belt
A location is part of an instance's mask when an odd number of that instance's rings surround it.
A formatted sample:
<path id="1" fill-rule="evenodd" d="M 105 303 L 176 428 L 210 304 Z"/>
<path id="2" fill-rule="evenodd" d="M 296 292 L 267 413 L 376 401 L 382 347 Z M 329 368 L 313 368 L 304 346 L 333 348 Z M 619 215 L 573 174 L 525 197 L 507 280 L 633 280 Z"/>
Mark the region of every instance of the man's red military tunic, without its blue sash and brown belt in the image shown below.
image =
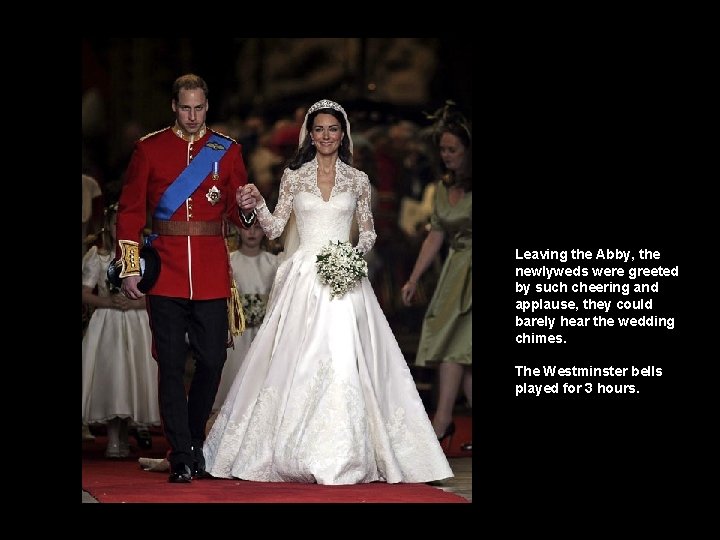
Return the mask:
<path id="1" fill-rule="evenodd" d="M 118 205 L 118 240 L 141 242 L 148 215 L 153 215 L 165 190 L 213 133 L 231 142 L 219 162 L 219 178 L 214 180 L 212 170 L 208 170 L 207 177 L 170 221 L 221 221 L 226 216 L 245 227 L 235 200 L 237 189 L 247 183 L 240 145 L 210 129 L 191 143 L 166 128 L 146 135 L 135 145 Z M 220 200 L 215 205 L 206 197 L 213 186 L 220 190 Z M 223 235 L 161 235 L 152 246 L 160 256 L 161 265 L 157 282 L 148 294 L 191 300 L 230 296 L 230 263 Z M 120 254 L 118 246 L 117 256 Z"/>

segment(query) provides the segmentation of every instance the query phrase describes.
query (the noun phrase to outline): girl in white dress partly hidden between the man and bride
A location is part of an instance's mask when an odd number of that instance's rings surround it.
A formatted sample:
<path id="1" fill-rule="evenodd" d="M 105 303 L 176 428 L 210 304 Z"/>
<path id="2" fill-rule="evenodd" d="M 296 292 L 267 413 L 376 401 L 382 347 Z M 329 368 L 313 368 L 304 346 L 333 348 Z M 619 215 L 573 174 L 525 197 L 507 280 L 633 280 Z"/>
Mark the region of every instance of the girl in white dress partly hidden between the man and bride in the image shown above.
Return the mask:
<path id="1" fill-rule="evenodd" d="M 230 266 L 243 303 L 245 331 L 233 338 L 233 347 L 228 349 L 213 411 L 220 409 L 225 401 L 230 385 L 257 335 L 278 267 L 278 256 L 263 248 L 265 233 L 259 223 L 255 222 L 247 229 L 240 228 L 238 236 L 240 247 L 230 253 Z"/>

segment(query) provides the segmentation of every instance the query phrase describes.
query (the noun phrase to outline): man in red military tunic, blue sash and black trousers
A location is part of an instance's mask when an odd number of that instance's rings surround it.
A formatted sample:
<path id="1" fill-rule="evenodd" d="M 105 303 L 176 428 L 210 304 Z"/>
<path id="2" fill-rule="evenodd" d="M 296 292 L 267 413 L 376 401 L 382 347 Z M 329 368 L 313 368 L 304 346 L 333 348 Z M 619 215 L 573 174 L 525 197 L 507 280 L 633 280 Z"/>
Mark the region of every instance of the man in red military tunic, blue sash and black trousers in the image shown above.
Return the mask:
<path id="1" fill-rule="evenodd" d="M 175 124 L 140 139 L 128 166 L 117 218 L 117 267 L 128 298 L 147 292 L 158 362 L 158 395 L 170 445 L 169 481 L 207 476 L 202 445 L 228 341 L 230 267 L 223 219 L 247 228 L 254 199 L 238 206 L 247 183 L 240 145 L 208 129 L 208 87 L 197 75 L 173 84 Z M 154 283 L 143 279 L 141 234 L 160 260 Z M 149 278 L 149 276 L 145 276 Z M 154 279 L 154 276 L 153 276 Z M 195 373 L 185 391 L 186 335 Z"/>

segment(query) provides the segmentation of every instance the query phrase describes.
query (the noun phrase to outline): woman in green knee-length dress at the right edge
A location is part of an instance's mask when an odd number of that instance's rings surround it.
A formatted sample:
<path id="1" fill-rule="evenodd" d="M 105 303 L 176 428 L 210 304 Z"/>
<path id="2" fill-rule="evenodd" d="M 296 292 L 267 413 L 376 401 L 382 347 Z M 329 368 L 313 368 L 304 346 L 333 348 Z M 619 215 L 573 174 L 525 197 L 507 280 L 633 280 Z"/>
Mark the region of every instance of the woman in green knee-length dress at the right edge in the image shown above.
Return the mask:
<path id="1" fill-rule="evenodd" d="M 410 305 L 417 282 L 445 240 L 449 250 L 423 320 L 415 365 L 438 365 L 438 439 L 455 432 L 453 408 L 462 385 L 472 407 L 472 134 L 468 122 L 446 107 L 436 126 L 446 172 L 435 191 L 431 230 L 423 241 L 402 301 Z M 472 442 L 463 445 L 472 450 Z"/>

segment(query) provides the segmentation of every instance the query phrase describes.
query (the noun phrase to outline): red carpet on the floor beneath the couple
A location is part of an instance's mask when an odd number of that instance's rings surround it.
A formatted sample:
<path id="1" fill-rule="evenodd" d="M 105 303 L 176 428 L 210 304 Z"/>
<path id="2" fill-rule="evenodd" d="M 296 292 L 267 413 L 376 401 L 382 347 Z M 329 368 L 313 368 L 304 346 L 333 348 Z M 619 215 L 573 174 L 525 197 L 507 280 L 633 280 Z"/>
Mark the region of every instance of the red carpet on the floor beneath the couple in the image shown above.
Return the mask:
<path id="1" fill-rule="evenodd" d="M 454 493 L 426 484 L 322 486 L 285 482 L 207 479 L 170 484 L 167 473 L 146 472 L 137 458 L 164 457 L 162 436 L 152 450 L 138 450 L 131 438 L 130 457 L 103 457 L 105 437 L 83 442 L 82 488 L 101 503 L 467 503 Z"/>

